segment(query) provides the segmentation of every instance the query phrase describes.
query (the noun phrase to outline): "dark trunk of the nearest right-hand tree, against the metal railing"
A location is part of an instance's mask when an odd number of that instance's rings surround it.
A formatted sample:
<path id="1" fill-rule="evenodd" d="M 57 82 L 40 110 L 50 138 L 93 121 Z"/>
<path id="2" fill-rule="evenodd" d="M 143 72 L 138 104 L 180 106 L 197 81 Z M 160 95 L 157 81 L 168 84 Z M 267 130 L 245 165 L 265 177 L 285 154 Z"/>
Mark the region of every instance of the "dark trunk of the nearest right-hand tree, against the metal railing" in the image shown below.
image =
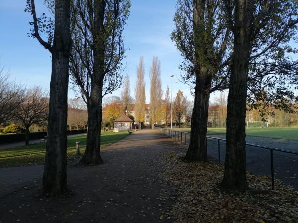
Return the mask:
<path id="1" fill-rule="evenodd" d="M 227 98 L 226 155 L 222 185 L 246 189 L 245 112 L 252 10 L 249 0 L 235 1 L 234 56 Z"/>

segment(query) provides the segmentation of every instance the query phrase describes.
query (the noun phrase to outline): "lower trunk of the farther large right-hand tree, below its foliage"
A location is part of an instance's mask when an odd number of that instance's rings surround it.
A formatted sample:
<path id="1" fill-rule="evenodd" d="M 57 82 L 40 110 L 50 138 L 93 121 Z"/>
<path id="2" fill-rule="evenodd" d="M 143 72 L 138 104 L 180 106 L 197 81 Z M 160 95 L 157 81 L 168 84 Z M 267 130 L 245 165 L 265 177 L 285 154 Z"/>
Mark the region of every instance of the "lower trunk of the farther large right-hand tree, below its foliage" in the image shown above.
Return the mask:
<path id="1" fill-rule="evenodd" d="M 194 109 L 191 117 L 190 143 L 185 158 L 189 161 L 207 161 L 207 121 L 211 79 L 205 75 L 196 78 Z"/>

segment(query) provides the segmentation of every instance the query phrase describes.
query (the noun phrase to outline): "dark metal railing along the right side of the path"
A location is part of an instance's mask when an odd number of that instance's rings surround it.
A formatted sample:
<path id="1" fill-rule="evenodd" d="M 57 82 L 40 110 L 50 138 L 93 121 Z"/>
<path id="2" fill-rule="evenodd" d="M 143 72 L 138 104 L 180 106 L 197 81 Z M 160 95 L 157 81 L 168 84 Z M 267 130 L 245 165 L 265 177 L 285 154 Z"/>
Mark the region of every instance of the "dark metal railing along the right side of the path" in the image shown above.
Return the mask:
<path id="1" fill-rule="evenodd" d="M 156 127 L 154 126 L 155 129 L 158 129 L 159 131 L 161 131 L 163 134 L 167 135 L 168 137 L 174 138 L 176 141 L 180 142 L 181 141 L 181 145 L 187 145 L 187 136 L 190 137 L 190 133 L 189 132 L 183 132 L 183 131 L 176 131 L 173 129 L 169 129 L 169 128 L 161 128 L 161 127 Z M 222 138 L 217 138 L 217 137 L 212 137 L 212 136 L 206 136 L 206 139 L 215 139 L 217 140 L 217 144 L 218 144 L 218 160 L 219 163 L 221 163 L 221 141 L 226 141 L 226 139 L 222 139 Z M 207 140 L 206 140 L 207 142 Z M 292 154 L 292 155 L 298 155 L 298 152 L 294 152 L 294 151 L 290 151 L 290 150 L 284 150 L 284 149 L 279 149 L 279 148 L 274 148 L 274 147 L 268 147 L 268 146 L 261 146 L 261 145 L 256 145 L 256 144 L 251 144 L 251 143 L 246 143 L 246 146 L 252 146 L 252 147 L 256 147 L 256 148 L 262 148 L 265 150 L 270 151 L 270 168 L 271 168 L 271 187 L 272 190 L 275 189 L 275 184 L 274 184 L 274 151 L 276 152 L 282 152 L 282 153 L 286 153 L 286 154 Z M 297 157 L 298 158 L 298 157 Z"/>

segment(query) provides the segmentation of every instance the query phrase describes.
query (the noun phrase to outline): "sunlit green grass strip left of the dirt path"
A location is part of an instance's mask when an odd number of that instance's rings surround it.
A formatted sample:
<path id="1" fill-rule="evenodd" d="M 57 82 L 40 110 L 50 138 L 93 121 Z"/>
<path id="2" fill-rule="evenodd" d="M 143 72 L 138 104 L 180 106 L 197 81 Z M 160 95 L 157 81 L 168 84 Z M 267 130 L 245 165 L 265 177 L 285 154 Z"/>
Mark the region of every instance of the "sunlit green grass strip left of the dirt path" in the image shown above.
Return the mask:
<path id="1" fill-rule="evenodd" d="M 123 132 L 102 132 L 101 148 L 104 148 L 128 135 L 127 131 Z M 68 162 L 78 159 L 80 155 L 76 155 L 75 142 L 80 142 L 81 154 L 85 151 L 86 136 L 81 135 L 68 139 Z M 16 166 L 32 166 L 44 163 L 46 143 L 32 144 L 13 149 L 0 151 L 0 167 L 16 167 Z"/>

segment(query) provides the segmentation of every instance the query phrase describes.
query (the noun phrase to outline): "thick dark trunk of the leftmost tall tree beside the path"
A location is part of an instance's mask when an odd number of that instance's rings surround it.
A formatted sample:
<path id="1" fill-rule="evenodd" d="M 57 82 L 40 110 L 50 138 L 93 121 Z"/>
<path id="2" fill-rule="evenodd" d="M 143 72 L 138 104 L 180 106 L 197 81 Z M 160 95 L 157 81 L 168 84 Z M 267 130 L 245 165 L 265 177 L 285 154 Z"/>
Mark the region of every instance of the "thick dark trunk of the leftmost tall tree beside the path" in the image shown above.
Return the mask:
<path id="1" fill-rule="evenodd" d="M 71 51 L 70 0 L 55 0 L 55 34 L 43 193 L 67 191 L 67 95 Z"/>

